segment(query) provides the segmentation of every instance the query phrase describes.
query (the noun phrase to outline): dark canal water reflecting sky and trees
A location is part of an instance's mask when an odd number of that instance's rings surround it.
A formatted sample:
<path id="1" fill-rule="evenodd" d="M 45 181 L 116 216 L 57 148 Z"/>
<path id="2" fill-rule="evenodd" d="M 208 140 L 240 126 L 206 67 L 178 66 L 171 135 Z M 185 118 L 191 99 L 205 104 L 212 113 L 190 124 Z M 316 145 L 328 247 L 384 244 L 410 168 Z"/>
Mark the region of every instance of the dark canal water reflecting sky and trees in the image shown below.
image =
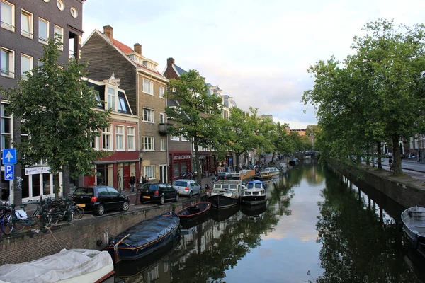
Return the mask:
<path id="1" fill-rule="evenodd" d="M 158 253 L 120 262 L 115 282 L 424 282 L 399 231 L 404 208 L 372 187 L 310 161 L 267 193 L 267 205 L 214 210 Z"/>

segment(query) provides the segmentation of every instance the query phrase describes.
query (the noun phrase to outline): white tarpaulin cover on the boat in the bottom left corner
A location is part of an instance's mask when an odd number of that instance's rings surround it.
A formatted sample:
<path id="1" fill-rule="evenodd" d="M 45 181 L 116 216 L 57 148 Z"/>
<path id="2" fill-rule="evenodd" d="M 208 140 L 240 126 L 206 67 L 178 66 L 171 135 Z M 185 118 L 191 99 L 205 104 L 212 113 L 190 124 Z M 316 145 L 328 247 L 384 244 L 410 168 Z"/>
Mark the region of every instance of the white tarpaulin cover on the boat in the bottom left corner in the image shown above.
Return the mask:
<path id="1" fill-rule="evenodd" d="M 0 282 L 73 282 L 75 277 L 79 277 L 82 283 L 84 280 L 81 279 L 85 277 L 81 275 L 103 277 L 105 274 L 101 275 L 100 270 L 103 273 L 113 270 L 112 258 L 107 251 L 63 249 L 31 262 L 1 266 Z"/>

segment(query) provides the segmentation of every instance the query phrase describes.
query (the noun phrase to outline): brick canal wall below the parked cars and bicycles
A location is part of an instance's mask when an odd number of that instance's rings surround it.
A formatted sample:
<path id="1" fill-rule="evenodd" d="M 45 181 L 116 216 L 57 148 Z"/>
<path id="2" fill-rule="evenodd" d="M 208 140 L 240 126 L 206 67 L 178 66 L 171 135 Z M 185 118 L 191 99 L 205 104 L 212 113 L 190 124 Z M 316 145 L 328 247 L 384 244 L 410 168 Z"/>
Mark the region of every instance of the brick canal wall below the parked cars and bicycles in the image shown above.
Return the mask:
<path id="1" fill-rule="evenodd" d="M 181 198 L 178 203 L 162 206 L 131 209 L 128 212 L 106 213 L 100 217 L 83 217 L 71 224 L 50 227 L 50 231 L 20 232 L 13 236 L 0 236 L 0 265 L 28 262 L 59 252 L 62 248 L 89 248 L 102 250 L 106 244 L 106 234 L 117 235 L 131 226 L 153 216 L 178 211 L 190 204 L 200 202 L 203 196 L 191 199 Z M 108 215 L 109 214 L 109 215 Z"/>

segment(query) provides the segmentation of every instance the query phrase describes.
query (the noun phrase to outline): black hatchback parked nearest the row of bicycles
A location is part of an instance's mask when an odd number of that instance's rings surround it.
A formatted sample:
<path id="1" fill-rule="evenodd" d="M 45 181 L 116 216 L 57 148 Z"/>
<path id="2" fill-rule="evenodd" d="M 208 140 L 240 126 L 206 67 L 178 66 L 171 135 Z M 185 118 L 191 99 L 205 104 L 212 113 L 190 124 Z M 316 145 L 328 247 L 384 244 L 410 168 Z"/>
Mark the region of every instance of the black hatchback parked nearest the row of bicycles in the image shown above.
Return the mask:
<path id="1" fill-rule="evenodd" d="M 108 186 L 79 187 L 72 197 L 77 202 L 77 206 L 84 210 L 94 211 L 99 216 L 107 210 L 128 210 L 130 207 L 128 196 Z"/>

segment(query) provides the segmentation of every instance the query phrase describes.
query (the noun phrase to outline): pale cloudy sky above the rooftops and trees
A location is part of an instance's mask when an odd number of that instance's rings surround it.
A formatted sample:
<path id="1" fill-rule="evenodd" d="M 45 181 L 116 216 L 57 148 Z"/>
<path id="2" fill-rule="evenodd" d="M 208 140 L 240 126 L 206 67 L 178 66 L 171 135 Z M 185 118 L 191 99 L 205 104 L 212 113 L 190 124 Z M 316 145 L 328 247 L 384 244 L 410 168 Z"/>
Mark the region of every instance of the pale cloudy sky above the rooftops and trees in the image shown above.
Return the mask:
<path id="1" fill-rule="evenodd" d="M 307 69 L 331 56 L 352 54 L 353 37 L 379 18 L 424 23 L 424 0 L 86 0 L 83 40 L 104 25 L 115 40 L 159 63 L 196 69 L 239 108 L 258 108 L 290 129 L 316 125 L 302 94 L 312 89 Z"/>

